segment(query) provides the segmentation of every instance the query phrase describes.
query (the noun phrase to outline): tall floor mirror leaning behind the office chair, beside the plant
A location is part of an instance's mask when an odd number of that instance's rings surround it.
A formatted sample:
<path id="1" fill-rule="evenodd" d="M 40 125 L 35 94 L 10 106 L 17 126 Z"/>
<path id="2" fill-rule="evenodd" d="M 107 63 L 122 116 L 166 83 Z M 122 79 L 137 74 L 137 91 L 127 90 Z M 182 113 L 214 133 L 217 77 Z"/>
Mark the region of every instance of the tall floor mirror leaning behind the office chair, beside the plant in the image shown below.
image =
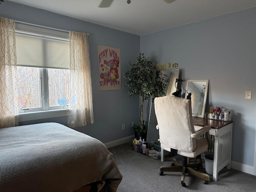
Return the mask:
<path id="1" fill-rule="evenodd" d="M 179 78 L 179 69 L 176 70 L 161 70 L 163 74 L 166 74 L 170 78 L 170 82 L 168 86 L 166 87 L 166 95 L 171 95 L 173 92 L 176 92 L 176 87 L 175 87 L 175 80 L 176 78 Z M 157 120 L 156 120 L 156 114 L 155 114 L 155 108 L 154 108 L 154 103 L 152 103 L 152 97 L 150 97 L 150 114 L 149 114 L 149 122 L 148 122 L 148 134 L 147 134 L 147 141 L 149 141 L 150 146 L 154 145 L 154 143 L 158 142 L 159 139 L 159 132 L 156 129 L 157 125 Z M 157 147 L 157 144 L 154 145 L 156 150 L 160 150 L 160 145 L 159 148 Z"/>

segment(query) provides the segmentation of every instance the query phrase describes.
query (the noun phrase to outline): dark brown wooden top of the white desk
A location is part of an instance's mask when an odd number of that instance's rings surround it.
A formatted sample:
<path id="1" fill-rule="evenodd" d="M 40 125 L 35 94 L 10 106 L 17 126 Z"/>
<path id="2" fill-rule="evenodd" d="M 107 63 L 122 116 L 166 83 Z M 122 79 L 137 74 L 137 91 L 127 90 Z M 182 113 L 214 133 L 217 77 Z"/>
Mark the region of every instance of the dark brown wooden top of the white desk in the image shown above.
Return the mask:
<path id="1" fill-rule="evenodd" d="M 200 117 L 192 117 L 194 125 L 197 126 L 211 126 L 214 129 L 220 129 L 233 121 L 221 121 L 221 120 L 214 120 L 214 119 L 205 119 Z"/>

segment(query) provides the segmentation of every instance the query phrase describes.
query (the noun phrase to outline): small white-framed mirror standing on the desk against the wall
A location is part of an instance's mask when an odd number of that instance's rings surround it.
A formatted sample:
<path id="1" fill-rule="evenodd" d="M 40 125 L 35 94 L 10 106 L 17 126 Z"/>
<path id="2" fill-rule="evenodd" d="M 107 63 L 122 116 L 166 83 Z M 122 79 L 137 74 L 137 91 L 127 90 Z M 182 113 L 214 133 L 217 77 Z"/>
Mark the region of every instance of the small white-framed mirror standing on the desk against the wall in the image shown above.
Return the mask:
<path id="1" fill-rule="evenodd" d="M 204 118 L 209 80 L 188 80 L 185 98 L 191 99 L 192 116 Z"/>

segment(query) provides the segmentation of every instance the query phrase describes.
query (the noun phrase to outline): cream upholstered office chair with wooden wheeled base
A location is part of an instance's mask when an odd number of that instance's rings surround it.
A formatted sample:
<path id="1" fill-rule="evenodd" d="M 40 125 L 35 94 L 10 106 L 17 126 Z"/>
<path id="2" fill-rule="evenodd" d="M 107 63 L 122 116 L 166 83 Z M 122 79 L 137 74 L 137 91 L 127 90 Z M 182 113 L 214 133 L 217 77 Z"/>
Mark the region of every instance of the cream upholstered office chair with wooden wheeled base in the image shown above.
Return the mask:
<path id="1" fill-rule="evenodd" d="M 210 176 L 199 172 L 200 163 L 188 164 L 187 157 L 195 158 L 212 148 L 210 139 L 210 126 L 204 126 L 195 132 L 192 122 L 191 100 L 178 98 L 175 96 L 158 97 L 154 100 L 155 113 L 159 129 L 161 148 L 166 151 L 176 149 L 177 154 L 183 156 L 182 164 L 173 159 L 172 166 L 161 167 L 160 175 L 164 172 L 182 172 L 181 184 L 184 183 L 186 173 L 193 174 L 204 179 L 204 184 L 208 184 Z M 201 137 L 205 134 L 205 137 Z"/>

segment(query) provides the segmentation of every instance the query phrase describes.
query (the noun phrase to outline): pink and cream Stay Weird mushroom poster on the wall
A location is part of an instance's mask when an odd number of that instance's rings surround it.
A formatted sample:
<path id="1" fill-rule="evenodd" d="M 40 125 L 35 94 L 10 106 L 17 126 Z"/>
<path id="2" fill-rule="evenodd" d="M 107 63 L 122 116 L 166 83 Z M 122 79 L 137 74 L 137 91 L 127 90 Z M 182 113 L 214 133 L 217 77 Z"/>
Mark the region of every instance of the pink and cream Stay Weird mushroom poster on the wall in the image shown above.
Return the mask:
<path id="1" fill-rule="evenodd" d="M 100 90 L 120 90 L 120 49 L 98 45 Z"/>

